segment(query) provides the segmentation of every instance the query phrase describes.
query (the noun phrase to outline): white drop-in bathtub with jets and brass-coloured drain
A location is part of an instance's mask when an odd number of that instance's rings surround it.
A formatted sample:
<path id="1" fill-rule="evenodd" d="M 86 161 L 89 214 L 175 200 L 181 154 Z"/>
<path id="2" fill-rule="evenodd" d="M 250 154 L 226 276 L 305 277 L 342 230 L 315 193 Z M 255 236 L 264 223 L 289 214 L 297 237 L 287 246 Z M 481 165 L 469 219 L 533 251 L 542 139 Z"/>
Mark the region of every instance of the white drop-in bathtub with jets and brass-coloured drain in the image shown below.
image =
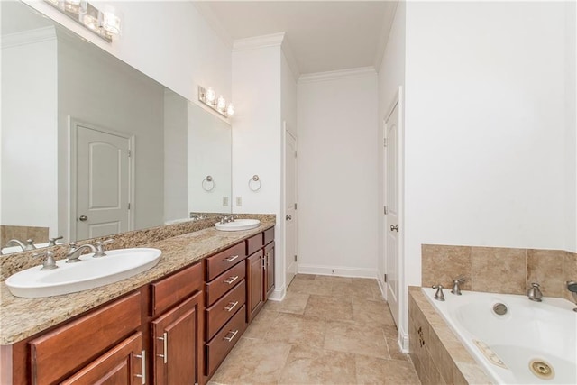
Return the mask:
<path id="1" fill-rule="evenodd" d="M 422 289 L 495 383 L 577 384 L 577 313 L 568 300 L 444 289 L 442 302 Z"/>

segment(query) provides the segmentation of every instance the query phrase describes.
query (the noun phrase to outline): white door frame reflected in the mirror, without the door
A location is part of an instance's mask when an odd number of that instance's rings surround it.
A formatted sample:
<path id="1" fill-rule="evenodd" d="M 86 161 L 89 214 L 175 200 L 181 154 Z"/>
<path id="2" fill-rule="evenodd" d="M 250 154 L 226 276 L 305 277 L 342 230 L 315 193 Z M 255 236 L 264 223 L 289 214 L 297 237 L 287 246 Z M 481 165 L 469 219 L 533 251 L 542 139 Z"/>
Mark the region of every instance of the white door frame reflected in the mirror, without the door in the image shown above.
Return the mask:
<path id="1" fill-rule="evenodd" d="M 130 210 L 128 212 L 128 231 L 134 229 L 134 156 L 135 139 L 131 133 L 121 133 L 96 124 L 90 124 L 75 117 L 69 116 L 69 223 L 68 223 L 68 239 L 70 242 L 77 241 L 76 236 L 76 218 L 77 218 L 77 137 L 78 126 L 88 128 L 90 130 L 99 131 L 101 133 L 108 133 L 121 138 L 127 139 L 131 151 L 131 156 L 128 158 L 128 194 L 130 197 Z"/>

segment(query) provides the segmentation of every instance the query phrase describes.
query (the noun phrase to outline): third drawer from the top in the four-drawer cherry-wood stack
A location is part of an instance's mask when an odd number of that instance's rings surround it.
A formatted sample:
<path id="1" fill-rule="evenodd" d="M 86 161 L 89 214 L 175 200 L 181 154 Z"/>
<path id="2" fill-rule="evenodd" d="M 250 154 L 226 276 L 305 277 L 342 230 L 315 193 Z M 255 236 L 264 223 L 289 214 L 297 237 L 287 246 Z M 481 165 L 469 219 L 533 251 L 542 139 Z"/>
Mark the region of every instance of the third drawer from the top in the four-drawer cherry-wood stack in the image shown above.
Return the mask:
<path id="1" fill-rule="evenodd" d="M 216 301 L 215 305 L 206 309 L 206 341 L 210 340 L 226 321 L 234 315 L 236 310 L 243 307 L 245 302 L 246 280 L 242 280 L 234 289 L 230 290 Z"/>

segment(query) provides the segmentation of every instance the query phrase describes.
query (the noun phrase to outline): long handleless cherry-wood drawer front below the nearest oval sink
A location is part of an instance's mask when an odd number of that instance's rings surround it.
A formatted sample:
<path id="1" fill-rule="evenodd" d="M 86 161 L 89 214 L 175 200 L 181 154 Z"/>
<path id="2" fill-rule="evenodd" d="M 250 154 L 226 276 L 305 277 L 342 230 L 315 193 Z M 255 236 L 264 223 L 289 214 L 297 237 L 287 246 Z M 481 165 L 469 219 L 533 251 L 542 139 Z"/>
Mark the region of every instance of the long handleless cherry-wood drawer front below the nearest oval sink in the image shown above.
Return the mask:
<path id="1" fill-rule="evenodd" d="M 141 293 L 135 292 L 32 340 L 32 383 L 61 380 L 140 325 Z"/>

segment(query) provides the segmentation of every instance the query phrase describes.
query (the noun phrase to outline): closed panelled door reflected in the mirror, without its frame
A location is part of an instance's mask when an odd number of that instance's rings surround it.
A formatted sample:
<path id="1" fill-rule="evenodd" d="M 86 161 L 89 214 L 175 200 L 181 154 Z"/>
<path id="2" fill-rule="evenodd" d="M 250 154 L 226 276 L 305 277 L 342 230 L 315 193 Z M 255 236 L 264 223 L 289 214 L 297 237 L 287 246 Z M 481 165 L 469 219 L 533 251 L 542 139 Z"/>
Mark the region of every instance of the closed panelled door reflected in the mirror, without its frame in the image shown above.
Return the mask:
<path id="1" fill-rule="evenodd" d="M 130 136 L 76 129 L 76 239 L 131 230 Z"/>

